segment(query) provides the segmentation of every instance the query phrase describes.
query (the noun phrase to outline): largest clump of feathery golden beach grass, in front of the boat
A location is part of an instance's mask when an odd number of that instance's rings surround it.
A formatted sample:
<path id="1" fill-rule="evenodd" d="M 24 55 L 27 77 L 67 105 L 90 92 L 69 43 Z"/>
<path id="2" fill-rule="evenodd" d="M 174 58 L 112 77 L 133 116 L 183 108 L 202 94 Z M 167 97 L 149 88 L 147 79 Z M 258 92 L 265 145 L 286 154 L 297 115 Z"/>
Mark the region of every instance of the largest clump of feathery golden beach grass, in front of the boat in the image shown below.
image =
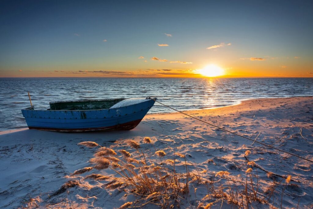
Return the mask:
<path id="1" fill-rule="evenodd" d="M 145 137 L 144 142 L 151 144 L 151 139 Z M 120 208 L 127 208 L 131 205 L 140 207 L 147 203 L 164 207 L 175 204 L 178 206 L 189 191 L 188 178 L 190 177 L 187 164 L 186 173 L 177 173 L 175 158 L 167 159 L 167 163 L 162 163 L 161 158 L 167 155 L 163 150 L 155 152 L 161 159 L 161 163 L 155 164 L 148 155 L 139 151 L 138 142 L 129 140 L 127 144 L 129 148 L 136 149 L 136 152 L 131 154 L 128 150 L 122 149 L 116 153 L 113 149 L 100 147 L 96 150 L 95 157 L 89 160 L 92 167 L 77 170 L 74 174 L 83 174 L 91 169 L 111 169 L 115 174 L 110 176 L 89 174 L 85 176 L 84 180 L 110 181 L 104 184 L 103 188 L 124 190 L 127 194 L 137 197 L 137 201 L 126 202 Z M 96 147 L 90 142 L 81 142 L 80 145 Z"/>

